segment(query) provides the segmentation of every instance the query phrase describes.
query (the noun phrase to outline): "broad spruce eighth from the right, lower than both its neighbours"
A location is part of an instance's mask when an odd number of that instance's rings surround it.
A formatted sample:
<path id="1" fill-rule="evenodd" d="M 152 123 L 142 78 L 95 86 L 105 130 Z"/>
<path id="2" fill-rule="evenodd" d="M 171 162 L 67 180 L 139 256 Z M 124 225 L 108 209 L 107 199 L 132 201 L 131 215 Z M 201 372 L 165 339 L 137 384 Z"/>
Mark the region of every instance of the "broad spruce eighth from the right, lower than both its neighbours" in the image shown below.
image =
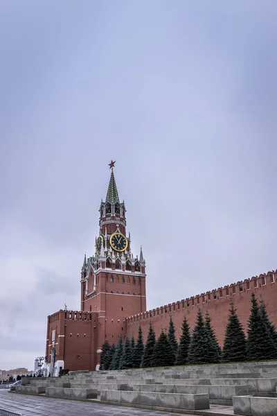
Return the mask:
<path id="1" fill-rule="evenodd" d="M 152 367 L 163 367 L 166 365 L 174 365 L 175 354 L 165 332 L 161 331 L 152 356 Z"/>

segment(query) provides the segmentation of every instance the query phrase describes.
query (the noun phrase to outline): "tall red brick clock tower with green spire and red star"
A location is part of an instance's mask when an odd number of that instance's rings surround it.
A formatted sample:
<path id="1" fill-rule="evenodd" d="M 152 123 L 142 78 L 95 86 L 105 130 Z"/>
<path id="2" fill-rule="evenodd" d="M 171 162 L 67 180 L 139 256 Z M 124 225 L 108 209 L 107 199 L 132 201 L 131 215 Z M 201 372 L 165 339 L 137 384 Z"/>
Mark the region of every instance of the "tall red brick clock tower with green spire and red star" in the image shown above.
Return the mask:
<path id="1" fill-rule="evenodd" d="M 118 196 L 114 164 L 109 164 L 107 196 L 100 203 L 95 252 L 88 259 L 84 255 L 80 281 L 81 311 L 97 313 L 93 324 L 98 352 L 105 339 L 116 344 L 120 334 L 125 335 L 126 316 L 146 310 L 145 260 L 142 249 L 136 257 L 131 250 L 125 203 Z"/>

